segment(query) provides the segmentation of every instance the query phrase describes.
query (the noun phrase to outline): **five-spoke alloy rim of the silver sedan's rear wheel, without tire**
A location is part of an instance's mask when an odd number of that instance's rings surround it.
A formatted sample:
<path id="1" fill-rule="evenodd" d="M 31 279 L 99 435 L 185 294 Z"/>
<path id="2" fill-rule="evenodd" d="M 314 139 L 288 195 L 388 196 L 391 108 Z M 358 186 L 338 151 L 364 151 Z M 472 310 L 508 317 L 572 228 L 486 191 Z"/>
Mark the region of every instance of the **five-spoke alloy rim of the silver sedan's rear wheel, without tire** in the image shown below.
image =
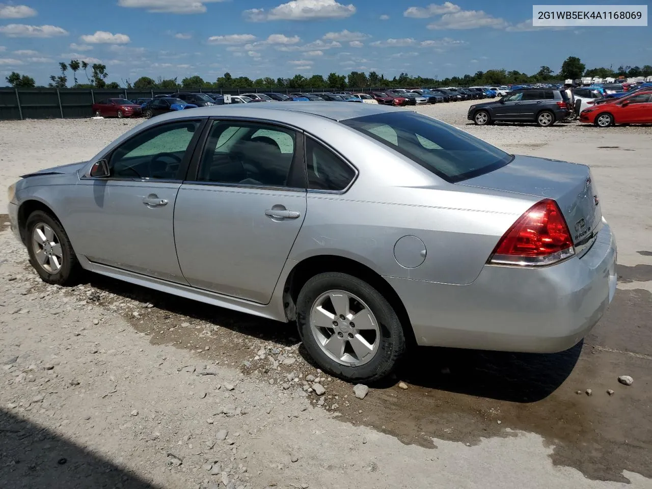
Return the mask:
<path id="1" fill-rule="evenodd" d="M 380 345 L 374 313 L 359 297 L 343 290 L 319 295 L 310 309 L 310 330 L 326 355 L 348 366 L 371 361 Z"/>

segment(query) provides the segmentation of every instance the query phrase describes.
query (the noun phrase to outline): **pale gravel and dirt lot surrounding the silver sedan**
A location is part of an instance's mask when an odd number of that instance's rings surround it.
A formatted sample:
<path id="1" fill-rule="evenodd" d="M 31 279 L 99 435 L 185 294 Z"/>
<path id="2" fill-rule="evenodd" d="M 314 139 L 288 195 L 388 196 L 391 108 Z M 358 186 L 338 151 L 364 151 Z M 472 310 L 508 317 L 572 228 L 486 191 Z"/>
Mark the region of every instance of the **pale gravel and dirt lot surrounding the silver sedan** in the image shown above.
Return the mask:
<path id="1" fill-rule="evenodd" d="M 652 128 L 475 127 L 468 105 L 419 110 L 592 168 L 619 284 L 584 344 L 421 348 L 359 400 L 289 325 L 101 276 L 47 286 L 0 216 L 0 488 L 652 488 Z M 0 123 L 0 186 L 138 123 Z"/>

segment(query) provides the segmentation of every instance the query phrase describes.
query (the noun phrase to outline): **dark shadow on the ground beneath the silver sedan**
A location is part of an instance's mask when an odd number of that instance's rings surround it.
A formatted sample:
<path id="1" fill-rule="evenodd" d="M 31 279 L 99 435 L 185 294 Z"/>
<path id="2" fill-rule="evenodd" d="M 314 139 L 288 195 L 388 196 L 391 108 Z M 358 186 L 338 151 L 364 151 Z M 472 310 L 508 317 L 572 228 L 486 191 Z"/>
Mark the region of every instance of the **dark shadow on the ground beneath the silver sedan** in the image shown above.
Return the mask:
<path id="1" fill-rule="evenodd" d="M 294 324 L 203 304 L 190 299 L 135 286 L 98 274 L 88 274 L 89 284 L 110 293 L 151 303 L 172 314 L 198 319 L 280 346 L 299 342 Z M 413 385 L 512 402 L 536 402 L 553 393 L 571 374 L 582 344 L 561 353 L 505 353 L 456 348 L 410 346 L 396 376 L 373 387 L 387 388 L 398 378 Z M 318 367 L 303 346 L 299 354 Z"/>

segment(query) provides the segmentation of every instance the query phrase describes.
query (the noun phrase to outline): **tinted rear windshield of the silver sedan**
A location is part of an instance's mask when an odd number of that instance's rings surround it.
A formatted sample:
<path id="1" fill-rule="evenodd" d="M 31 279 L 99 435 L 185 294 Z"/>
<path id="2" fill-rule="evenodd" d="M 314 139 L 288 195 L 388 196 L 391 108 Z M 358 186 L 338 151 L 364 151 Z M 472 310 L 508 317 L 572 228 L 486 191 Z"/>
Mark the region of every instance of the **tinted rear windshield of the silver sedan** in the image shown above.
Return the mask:
<path id="1" fill-rule="evenodd" d="M 342 124 L 380 141 L 451 183 L 494 171 L 513 158 L 464 131 L 410 111 L 356 117 Z"/>

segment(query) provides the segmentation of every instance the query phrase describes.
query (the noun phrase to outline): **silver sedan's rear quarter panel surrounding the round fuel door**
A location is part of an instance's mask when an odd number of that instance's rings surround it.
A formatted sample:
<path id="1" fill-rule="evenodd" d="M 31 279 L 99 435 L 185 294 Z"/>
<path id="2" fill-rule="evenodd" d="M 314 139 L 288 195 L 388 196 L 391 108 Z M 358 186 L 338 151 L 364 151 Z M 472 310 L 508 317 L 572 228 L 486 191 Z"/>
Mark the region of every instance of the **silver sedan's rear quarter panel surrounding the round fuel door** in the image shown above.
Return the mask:
<path id="1" fill-rule="evenodd" d="M 289 256 L 295 261 L 337 255 L 383 276 L 471 284 L 503 233 L 537 201 L 447 183 L 345 126 L 316 134 L 325 135 L 359 175 L 344 194 L 308 192 L 306 218 Z M 409 235 L 426 247 L 415 268 L 394 258 L 396 242 Z"/>

